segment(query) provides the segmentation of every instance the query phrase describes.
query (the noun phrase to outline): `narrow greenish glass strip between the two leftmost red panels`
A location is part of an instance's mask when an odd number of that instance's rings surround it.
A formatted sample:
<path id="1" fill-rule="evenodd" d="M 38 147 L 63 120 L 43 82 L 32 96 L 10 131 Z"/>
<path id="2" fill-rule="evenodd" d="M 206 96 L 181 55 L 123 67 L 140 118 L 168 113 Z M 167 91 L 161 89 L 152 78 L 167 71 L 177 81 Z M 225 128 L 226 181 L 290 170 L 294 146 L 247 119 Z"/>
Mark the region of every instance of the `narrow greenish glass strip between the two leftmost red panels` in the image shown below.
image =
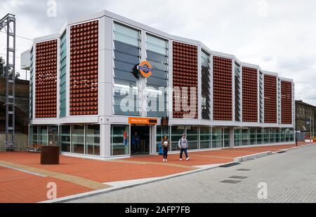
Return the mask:
<path id="1" fill-rule="evenodd" d="M 60 38 L 60 117 L 66 116 L 67 34 Z"/>

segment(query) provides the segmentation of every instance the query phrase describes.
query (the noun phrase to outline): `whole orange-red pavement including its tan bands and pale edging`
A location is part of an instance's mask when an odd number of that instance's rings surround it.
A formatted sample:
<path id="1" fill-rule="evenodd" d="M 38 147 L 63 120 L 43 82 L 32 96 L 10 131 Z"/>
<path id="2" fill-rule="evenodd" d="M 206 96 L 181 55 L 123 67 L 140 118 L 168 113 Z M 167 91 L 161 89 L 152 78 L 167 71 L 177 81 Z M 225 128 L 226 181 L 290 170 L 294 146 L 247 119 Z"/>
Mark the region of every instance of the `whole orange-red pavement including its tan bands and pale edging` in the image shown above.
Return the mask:
<path id="1" fill-rule="evenodd" d="M 308 144 L 300 143 L 299 146 Z M 190 152 L 190 161 L 179 161 L 171 153 L 168 162 L 160 155 L 116 160 L 90 160 L 60 155 L 60 165 L 40 165 L 39 153 L 0 153 L 0 202 L 42 202 L 48 200 L 47 184 L 56 183 L 57 197 L 75 197 L 93 191 L 117 189 L 168 179 L 233 162 L 235 158 L 265 151 L 282 151 L 294 145 L 228 148 Z"/>

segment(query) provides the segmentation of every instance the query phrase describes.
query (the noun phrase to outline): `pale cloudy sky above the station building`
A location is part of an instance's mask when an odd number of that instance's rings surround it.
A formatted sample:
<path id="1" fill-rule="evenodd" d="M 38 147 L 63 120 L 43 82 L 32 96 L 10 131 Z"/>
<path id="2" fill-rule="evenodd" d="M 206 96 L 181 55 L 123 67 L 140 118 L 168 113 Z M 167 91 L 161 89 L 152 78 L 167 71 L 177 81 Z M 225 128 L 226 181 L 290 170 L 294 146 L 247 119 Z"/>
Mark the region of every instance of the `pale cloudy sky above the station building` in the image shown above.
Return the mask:
<path id="1" fill-rule="evenodd" d="M 55 34 L 65 22 L 110 10 L 166 33 L 202 41 L 211 50 L 292 78 L 296 99 L 316 105 L 316 1 L 270 0 L 0 0 L 0 17 L 17 20 L 17 69 L 20 52 L 36 38 Z M 48 16 L 51 2 L 55 17 Z M 0 56 L 6 38 L 0 33 Z M 21 78 L 25 71 L 17 70 Z"/>

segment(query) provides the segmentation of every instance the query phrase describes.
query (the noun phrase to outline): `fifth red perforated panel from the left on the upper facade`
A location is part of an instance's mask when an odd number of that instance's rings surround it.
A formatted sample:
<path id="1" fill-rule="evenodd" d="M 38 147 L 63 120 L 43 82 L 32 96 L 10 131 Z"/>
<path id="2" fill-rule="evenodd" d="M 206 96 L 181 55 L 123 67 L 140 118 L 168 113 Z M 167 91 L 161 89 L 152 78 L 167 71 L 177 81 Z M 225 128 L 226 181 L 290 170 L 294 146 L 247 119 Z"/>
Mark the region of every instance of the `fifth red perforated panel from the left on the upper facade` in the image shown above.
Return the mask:
<path id="1" fill-rule="evenodd" d="M 258 122 L 257 69 L 242 67 L 242 121 Z"/>

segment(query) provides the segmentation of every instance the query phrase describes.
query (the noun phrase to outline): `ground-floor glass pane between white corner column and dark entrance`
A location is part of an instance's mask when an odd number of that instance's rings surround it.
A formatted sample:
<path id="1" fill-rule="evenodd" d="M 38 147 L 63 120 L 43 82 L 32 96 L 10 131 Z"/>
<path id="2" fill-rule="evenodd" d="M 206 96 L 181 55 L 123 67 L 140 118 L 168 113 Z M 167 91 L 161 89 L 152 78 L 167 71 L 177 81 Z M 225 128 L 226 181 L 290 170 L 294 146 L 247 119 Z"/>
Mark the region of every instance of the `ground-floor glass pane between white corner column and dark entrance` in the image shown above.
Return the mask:
<path id="1" fill-rule="evenodd" d="M 129 125 L 111 126 L 111 155 L 129 155 Z"/>

